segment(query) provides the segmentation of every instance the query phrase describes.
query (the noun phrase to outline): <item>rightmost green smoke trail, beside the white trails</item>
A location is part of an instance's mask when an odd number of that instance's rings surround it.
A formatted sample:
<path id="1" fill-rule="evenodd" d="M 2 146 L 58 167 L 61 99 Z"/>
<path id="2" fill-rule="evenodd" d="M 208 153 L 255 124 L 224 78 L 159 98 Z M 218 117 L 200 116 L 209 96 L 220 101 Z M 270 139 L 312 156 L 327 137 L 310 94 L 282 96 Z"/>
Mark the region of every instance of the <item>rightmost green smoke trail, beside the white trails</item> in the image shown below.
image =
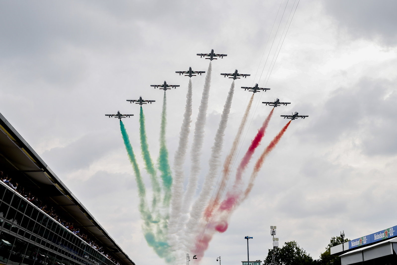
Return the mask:
<path id="1" fill-rule="evenodd" d="M 164 186 L 164 207 L 168 209 L 171 201 L 171 186 L 172 176 L 170 163 L 168 162 L 168 150 L 166 146 L 166 124 L 167 124 L 167 96 L 164 91 L 163 109 L 161 113 L 161 128 L 160 128 L 160 154 L 158 156 L 158 169 L 161 172 L 161 178 Z"/>

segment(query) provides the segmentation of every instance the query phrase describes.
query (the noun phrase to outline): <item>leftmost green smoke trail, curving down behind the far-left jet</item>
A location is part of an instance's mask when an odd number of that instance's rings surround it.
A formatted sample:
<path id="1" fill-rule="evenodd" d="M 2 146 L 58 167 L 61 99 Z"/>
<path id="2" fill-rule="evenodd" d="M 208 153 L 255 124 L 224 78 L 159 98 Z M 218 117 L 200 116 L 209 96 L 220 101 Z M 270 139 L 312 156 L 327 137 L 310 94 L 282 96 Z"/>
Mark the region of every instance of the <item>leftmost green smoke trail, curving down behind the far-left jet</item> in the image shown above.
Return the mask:
<path id="1" fill-rule="evenodd" d="M 137 181 L 138 186 L 138 195 L 139 195 L 139 212 L 141 213 L 141 217 L 144 221 L 143 225 L 143 233 L 145 235 L 146 242 L 149 246 L 151 246 L 154 251 L 156 251 L 157 255 L 161 258 L 164 258 L 166 262 L 172 263 L 174 261 L 173 256 L 170 254 L 168 243 L 165 238 L 163 229 L 161 227 L 157 227 L 156 236 L 153 233 L 152 226 L 159 226 L 160 222 L 158 220 L 154 220 L 150 211 L 148 210 L 146 203 L 146 189 L 145 184 L 142 181 L 141 172 L 139 170 L 137 161 L 135 159 L 135 154 L 132 149 L 131 143 L 129 141 L 129 137 L 127 131 L 125 130 L 123 122 L 120 120 L 120 131 L 123 136 L 125 149 L 127 150 L 127 154 L 129 157 L 129 161 L 133 167 L 135 173 L 135 180 Z"/>

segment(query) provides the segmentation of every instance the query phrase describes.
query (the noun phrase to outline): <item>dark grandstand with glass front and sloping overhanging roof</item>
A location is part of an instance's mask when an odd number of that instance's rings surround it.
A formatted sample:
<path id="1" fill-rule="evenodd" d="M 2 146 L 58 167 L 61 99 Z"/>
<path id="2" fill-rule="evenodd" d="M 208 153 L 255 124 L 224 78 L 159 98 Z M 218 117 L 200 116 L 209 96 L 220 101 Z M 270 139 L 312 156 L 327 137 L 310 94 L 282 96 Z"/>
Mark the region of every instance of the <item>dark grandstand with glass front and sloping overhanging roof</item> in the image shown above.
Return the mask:
<path id="1" fill-rule="evenodd" d="M 2 114 L 0 129 L 2 178 L 19 184 L 0 181 L 0 264 L 135 265 Z"/>

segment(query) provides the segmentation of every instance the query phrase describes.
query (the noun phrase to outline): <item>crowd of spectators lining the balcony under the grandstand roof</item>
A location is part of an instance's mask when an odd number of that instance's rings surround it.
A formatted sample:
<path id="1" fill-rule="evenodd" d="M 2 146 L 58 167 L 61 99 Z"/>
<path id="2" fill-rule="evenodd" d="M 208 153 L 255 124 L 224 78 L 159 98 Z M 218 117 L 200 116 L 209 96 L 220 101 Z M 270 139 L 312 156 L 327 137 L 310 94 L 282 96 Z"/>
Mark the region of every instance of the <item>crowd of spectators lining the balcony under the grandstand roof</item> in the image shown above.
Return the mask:
<path id="1" fill-rule="evenodd" d="M 47 205 L 42 203 L 42 201 L 40 201 L 36 196 L 32 195 L 30 192 L 25 191 L 24 188 L 18 188 L 18 183 L 13 184 L 11 182 L 12 178 L 8 178 L 8 176 L 4 176 L 4 173 L 2 171 L 0 171 L 0 179 L 5 184 L 8 184 L 8 186 L 10 186 L 13 190 L 15 190 L 16 192 L 21 194 L 23 197 L 25 197 L 25 199 L 27 199 L 28 201 L 30 201 L 31 203 L 36 205 L 38 208 L 40 208 L 42 211 L 44 211 L 45 213 L 50 215 L 52 218 L 54 218 L 54 220 L 58 221 L 60 224 L 65 226 L 67 229 L 71 230 L 71 232 L 73 232 L 73 234 L 76 234 L 77 236 L 79 236 L 81 239 L 83 239 L 85 242 L 87 242 L 87 244 L 89 244 L 92 248 L 94 248 L 95 250 L 102 253 L 105 257 L 107 257 L 108 259 L 110 259 L 111 261 L 116 263 L 117 265 L 120 264 L 112 256 L 108 255 L 107 253 L 104 253 L 103 248 L 98 246 L 98 244 L 96 244 L 93 240 L 90 240 L 86 234 L 83 234 L 82 232 L 80 232 L 79 228 L 75 228 L 73 226 L 72 222 L 67 222 L 67 221 L 61 219 L 55 213 L 53 207 L 47 207 Z"/>

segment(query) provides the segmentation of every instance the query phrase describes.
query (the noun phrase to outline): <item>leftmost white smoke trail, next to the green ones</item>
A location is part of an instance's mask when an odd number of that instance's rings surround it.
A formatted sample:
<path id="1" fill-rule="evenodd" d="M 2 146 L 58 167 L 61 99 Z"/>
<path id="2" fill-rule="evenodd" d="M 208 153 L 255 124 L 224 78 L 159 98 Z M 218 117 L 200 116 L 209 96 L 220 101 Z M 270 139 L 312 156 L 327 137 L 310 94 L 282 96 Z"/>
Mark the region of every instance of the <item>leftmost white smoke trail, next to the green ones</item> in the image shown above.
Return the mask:
<path id="1" fill-rule="evenodd" d="M 177 245 L 176 233 L 178 232 L 179 217 L 181 215 L 182 197 L 183 197 L 183 162 L 187 151 L 187 142 L 190 133 L 190 124 L 192 122 L 192 79 L 189 79 L 186 93 L 185 113 L 183 114 L 183 122 L 181 131 L 179 132 L 179 144 L 175 152 L 173 163 L 173 183 L 172 183 L 172 197 L 171 197 L 171 212 L 170 220 L 168 222 L 168 242 L 173 250 Z"/>

